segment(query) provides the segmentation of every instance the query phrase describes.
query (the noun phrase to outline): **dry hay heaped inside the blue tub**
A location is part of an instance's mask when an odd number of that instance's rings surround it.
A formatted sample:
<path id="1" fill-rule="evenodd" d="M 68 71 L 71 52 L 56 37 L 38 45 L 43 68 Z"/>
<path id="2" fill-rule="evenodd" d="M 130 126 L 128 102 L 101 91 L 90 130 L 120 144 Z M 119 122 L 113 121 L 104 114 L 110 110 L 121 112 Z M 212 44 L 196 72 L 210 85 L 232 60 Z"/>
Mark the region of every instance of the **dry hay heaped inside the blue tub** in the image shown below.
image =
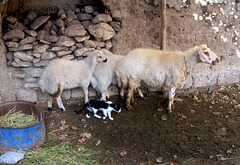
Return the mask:
<path id="1" fill-rule="evenodd" d="M 39 119 L 34 113 L 27 115 L 22 111 L 15 111 L 16 107 L 13 107 L 6 115 L 0 117 L 0 127 L 20 128 L 39 123 Z"/>

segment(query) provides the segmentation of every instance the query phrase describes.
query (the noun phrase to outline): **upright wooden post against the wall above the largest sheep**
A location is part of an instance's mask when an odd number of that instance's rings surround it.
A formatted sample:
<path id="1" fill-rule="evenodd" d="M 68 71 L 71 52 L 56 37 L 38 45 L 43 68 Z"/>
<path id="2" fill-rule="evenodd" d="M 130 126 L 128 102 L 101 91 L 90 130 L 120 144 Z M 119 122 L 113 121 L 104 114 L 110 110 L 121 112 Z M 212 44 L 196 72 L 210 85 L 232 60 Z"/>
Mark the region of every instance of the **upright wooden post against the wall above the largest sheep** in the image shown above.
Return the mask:
<path id="1" fill-rule="evenodd" d="M 167 16 L 166 16 L 167 2 L 166 0 L 161 0 L 160 8 L 161 8 L 161 47 L 162 47 L 162 50 L 166 50 L 167 49 Z"/>

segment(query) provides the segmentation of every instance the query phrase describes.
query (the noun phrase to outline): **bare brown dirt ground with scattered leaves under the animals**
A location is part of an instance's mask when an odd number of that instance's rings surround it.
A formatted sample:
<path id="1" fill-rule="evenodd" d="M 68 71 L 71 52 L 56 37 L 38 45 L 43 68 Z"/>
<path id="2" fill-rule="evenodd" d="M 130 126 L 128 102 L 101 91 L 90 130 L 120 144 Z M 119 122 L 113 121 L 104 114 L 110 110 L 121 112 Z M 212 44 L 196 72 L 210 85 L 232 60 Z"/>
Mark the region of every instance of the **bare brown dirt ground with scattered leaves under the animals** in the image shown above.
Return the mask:
<path id="1" fill-rule="evenodd" d="M 177 95 L 171 115 L 160 92 L 136 97 L 132 110 L 112 112 L 113 121 L 77 115 L 82 102 L 65 106 L 66 112 L 46 112 L 47 132 L 98 151 L 100 164 L 240 164 L 238 84 Z"/>

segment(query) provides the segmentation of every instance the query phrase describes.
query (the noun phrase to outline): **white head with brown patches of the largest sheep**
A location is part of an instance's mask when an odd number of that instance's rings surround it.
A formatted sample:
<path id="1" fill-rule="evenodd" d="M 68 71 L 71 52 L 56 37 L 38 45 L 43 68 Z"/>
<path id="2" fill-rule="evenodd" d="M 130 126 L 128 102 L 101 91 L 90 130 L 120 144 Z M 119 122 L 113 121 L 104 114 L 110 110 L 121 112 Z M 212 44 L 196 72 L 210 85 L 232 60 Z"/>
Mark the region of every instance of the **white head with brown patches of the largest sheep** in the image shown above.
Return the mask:
<path id="1" fill-rule="evenodd" d="M 209 64 L 217 65 L 217 63 L 220 61 L 220 58 L 213 51 L 211 51 L 207 45 L 200 45 L 198 55 L 201 61 Z"/>

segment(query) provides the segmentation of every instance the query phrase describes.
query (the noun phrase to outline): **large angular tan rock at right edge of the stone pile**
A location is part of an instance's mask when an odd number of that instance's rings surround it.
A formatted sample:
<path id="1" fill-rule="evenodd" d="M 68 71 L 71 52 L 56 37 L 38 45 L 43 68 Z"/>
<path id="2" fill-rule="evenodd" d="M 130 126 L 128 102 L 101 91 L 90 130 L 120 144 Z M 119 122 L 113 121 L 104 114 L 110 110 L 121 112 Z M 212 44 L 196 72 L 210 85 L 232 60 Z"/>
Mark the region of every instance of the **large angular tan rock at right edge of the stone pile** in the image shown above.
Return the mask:
<path id="1" fill-rule="evenodd" d="M 110 40 L 116 34 L 114 29 L 107 23 L 89 25 L 88 31 L 94 37 L 103 41 Z"/>

